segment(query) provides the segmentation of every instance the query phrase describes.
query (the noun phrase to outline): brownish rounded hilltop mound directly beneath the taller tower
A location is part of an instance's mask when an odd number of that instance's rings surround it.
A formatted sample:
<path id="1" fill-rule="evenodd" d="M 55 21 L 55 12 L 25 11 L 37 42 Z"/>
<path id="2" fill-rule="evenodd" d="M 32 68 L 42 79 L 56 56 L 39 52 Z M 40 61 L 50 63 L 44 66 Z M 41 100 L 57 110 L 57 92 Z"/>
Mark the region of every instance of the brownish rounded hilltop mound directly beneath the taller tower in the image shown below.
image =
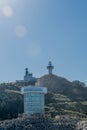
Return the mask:
<path id="1" fill-rule="evenodd" d="M 48 92 L 62 93 L 64 89 L 69 89 L 72 84 L 65 78 L 48 74 L 38 79 L 38 85 L 47 87 Z"/>

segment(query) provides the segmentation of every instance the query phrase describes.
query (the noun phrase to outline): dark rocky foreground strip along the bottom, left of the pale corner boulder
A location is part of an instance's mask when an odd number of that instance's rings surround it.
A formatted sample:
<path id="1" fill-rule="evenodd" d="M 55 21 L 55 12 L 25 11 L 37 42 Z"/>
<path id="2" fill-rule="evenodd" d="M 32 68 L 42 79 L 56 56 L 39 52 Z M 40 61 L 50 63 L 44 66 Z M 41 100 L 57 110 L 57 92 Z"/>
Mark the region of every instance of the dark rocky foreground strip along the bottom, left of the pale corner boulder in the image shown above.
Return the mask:
<path id="1" fill-rule="evenodd" d="M 75 130 L 76 120 L 22 117 L 0 122 L 0 130 Z"/>

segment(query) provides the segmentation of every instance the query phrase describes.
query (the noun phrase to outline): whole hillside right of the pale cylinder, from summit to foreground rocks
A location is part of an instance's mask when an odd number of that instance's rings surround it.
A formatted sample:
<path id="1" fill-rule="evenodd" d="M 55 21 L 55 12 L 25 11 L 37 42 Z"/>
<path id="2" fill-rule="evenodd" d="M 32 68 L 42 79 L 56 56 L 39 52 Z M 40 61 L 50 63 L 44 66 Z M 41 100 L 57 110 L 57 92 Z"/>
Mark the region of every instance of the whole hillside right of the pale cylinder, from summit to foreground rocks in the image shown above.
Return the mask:
<path id="1" fill-rule="evenodd" d="M 38 86 L 48 89 L 46 110 L 56 114 L 87 114 L 87 87 L 83 82 L 70 82 L 63 77 L 48 74 L 38 79 Z"/>

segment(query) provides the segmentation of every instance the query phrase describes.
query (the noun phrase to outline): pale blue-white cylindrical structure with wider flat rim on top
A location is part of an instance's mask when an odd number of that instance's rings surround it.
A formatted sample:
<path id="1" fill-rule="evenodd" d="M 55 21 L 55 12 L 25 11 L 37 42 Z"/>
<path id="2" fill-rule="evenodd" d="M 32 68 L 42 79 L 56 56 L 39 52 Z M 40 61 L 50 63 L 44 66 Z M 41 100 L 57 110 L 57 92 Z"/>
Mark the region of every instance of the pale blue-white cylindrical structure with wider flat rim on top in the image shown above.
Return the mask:
<path id="1" fill-rule="evenodd" d="M 44 114 L 44 94 L 47 88 L 29 86 L 21 88 L 24 94 L 24 114 Z"/>

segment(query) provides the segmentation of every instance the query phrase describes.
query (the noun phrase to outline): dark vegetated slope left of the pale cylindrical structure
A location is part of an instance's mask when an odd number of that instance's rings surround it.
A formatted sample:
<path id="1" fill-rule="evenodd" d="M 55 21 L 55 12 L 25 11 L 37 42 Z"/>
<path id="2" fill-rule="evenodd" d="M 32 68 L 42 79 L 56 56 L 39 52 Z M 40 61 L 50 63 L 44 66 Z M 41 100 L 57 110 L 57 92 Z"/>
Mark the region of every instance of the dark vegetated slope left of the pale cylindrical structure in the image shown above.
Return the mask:
<path id="1" fill-rule="evenodd" d="M 23 113 L 23 95 L 15 91 L 20 91 L 16 84 L 0 84 L 0 120 L 16 118 L 18 113 Z"/>

